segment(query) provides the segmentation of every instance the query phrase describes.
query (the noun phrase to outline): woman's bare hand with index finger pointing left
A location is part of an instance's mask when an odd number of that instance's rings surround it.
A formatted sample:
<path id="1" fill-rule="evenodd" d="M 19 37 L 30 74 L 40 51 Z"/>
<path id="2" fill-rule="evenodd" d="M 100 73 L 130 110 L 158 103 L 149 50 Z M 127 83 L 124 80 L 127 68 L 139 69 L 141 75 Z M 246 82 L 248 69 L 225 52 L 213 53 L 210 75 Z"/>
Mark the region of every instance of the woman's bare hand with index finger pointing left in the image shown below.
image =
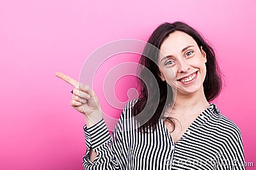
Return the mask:
<path id="1" fill-rule="evenodd" d="M 66 74 L 56 72 L 55 75 L 74 86 L 75 89 L 72 90 L 73 95 L 72 100 L 70 101 L 72 108 L 83 113 L 86 117 L 90 117 L 90 121 L 97 120 L 96 122 L 98 122 L 102 119 L 99 99 L 91 87 L 74 80 Z M 96 123 L 95 121 L 92 122 Z"/>

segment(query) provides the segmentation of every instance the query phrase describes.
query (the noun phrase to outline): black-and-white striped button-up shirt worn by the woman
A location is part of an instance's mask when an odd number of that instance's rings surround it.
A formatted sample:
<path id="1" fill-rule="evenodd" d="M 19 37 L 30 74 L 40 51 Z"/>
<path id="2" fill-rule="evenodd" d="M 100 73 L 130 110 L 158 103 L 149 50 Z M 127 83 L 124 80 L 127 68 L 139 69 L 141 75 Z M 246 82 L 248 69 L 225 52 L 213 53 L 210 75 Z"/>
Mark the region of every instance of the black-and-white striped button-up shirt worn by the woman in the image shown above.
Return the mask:
<path id="1" fill-rule="evenodd" d="M 241 132 L 210 103 L 174 143 L 163 120 L 150 133 L 134 128 L 130 101 L 110 135 L 102 119 L 84 126 L 84 169 L 245 169 Z M 90 161 L 89 150 L 97 152 Z"/>

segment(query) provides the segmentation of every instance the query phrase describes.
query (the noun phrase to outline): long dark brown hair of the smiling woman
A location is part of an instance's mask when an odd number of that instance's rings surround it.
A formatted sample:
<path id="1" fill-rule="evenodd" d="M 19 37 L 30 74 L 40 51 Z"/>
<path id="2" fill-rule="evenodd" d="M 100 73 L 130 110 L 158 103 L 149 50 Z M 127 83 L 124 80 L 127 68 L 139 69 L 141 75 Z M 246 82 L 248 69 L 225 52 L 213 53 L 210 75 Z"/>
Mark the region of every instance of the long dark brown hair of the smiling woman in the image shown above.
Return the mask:
<path id="1" fill-rule="evenodd" d="M 140 96 L 133 106 L 132 115 L 135 118 L 137 117 L 136 122 L 139 124 L 140 132 L 148 132 L 148 130 L 151 131 L 152 129 L 155 129 L 159 119 L 163 118 L 163 111 L 164 108 L 166 108 L 166 105 L 169 103 L 174 104 L 173 92 L 170 85 L 168 85 L 166 81 L 162 81 L 159 77 L 157 59 L 163 41 L 175 31 L 182 31 L 191 36 L 196 41 L 198 47 L 202 46 L 202 49 L 204 49 L 206 53 L 206 76 L 203 86 L 207 101 L 212 101 L 220 94 L 222 86 L 221 71 L 212 47 L 204 40 L 204 38 L 202 38 L 198 31 L 188 24 L 185 24 L 184 22 L 165 22 L 164 24 L 159 25 L 148 39 L 148 44 L 145 46 L 143 54 L 141 55 L 141 65 L 138 67 Z M 156 48 L 152 48 L 152 46 L 155 46 Z M 148 70 L 151 73 L 148 73 Z M 153 85 L 152 80 L 149 78 L 150 74 L 154 75 L 157 85 Z M 146 104 L 147 107 L 145 107 Z M 152 113 L 152 111 L 154 113 Z M 148 118 L 145 122 L 143 118 L 147 118 L 149 113 L 152 113 L 152 117 Z M 138 118 L 139 114 L 142 116 Z M 174 130 L 175 123 L 172 118 L 167 117 L 167 120 L 173 125 Z M 141 123 L 143 121 L 145 123 Z"/>

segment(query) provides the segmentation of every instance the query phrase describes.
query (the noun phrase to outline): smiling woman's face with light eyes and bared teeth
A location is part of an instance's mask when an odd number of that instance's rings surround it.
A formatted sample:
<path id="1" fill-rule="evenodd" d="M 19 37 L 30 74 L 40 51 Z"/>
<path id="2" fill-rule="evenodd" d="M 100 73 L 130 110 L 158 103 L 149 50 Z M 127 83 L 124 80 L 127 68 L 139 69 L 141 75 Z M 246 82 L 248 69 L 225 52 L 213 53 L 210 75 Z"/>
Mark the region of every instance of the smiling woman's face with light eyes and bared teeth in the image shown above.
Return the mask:
<path id="1" fill-rule="evenodd" d="M 191 36 L 175 31 L 164 40 L 160 50 L 164 56 L 159 55 L 159 76 L 177 88 L 177 95 L 186 96 L 202 90 L 206 54 Z"/>

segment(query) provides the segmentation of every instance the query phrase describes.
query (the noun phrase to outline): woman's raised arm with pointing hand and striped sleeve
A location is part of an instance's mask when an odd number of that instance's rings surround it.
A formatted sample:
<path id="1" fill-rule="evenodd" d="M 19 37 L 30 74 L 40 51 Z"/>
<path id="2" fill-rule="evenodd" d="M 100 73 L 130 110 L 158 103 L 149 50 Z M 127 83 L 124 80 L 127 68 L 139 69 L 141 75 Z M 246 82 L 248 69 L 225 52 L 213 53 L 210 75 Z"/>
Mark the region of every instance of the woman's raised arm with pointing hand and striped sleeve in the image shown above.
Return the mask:
<path id="1" fill-rule="evenodd" d="M 73 95 L 70 105 L 75 110 L 83 113 L 86 120 L 84 134 L 87 150 L 83 157 L 84 169 L 122 169 L 118 159 L 122 158 L 124 153 L 117 152 L 115 147 L 112 147 L 113 145 L 120 145 L 117 148 L 122 148 L 122 139 L 120 140 L 120 136 L 117 136 L 119 138 L 118 141 L 116 141 L 116 138 L 111 139 L 108 128 L 102 118 L 99 99 L 95 92 L 88 85 L 83 85 L 83 83 L 66 74 L 57 72 L 56 76 L 75 87 L 72 90 Z M 122 124 L 121 120 L 118 122 L 118 125 Z M 116 126 L 116 129 L 119 129 L 118 134 L 122 133 L 119 127 Z M 122 165 L 122 167 L 124 166 Z"/>

